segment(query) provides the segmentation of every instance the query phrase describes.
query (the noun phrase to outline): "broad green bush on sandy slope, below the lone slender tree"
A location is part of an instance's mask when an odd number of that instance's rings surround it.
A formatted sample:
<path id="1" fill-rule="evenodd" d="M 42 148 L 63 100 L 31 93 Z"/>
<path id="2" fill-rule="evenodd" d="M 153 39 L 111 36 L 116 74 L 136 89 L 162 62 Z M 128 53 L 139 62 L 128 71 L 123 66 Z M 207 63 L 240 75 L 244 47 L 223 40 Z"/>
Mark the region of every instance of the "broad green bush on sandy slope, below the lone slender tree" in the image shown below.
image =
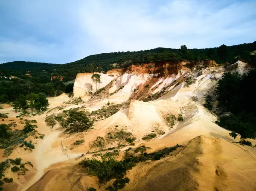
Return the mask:
<path id="1" fill-rule="evenodd" d="M 65 131 L 69 133 L 87 131 L 93 126 L 93 122 L 88 119 L 84 111 L 70 110 L 66 120 L 68 127 Z"/>

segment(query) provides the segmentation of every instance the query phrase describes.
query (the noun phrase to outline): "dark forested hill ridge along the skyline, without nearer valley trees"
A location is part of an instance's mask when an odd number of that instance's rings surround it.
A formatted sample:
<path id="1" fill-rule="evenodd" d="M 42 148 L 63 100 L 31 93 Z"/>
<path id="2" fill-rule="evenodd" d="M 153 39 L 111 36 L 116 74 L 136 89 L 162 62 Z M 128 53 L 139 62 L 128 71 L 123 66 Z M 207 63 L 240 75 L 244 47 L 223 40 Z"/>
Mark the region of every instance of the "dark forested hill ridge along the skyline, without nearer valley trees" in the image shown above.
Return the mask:
<path id="1" fill-rule="evenodd" d="M 220 46 L 218 48 L 187 49 L 181 46 L 180 49 L 173 48 L 154 48 L 144 51 L 111 52 L 87 56 L 67 64 L 48 64 L 15 61 L 0 64 L 0 70 L 5 73 L 16 75 L 23 78 L 26 71 L 31 75 L 61 75 L 64 81 L 73 80 L 79 72 L 108 71 L 113 63 L 119 63 L 119 67 L 129 63 L 148 63 L 156 60 L 215 60 L 217 63 L 233 63 L 237 58 L 250 60 L 250 52 L 256 50 L 256 41 L 254 43 L 244 43 L 235 46 Z M 126 62 L 129 61 L 129 62 Z M 72 69 L 71 69 L 72 68 Z M 3 71 L 2 71 L 3 72 Z"/>

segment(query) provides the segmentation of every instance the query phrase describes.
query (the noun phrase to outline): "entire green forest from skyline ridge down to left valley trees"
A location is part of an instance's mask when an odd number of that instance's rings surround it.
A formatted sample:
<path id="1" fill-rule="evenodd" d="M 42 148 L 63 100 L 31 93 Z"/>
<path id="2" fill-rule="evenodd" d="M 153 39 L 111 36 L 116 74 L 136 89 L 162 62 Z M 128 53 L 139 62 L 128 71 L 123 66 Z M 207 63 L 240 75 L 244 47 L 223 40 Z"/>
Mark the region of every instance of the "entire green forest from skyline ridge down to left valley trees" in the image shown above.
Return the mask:
<path id="1" fill-rule="evenodd" d="M 0 103 L 13 102 L 20 94 L 43 93 L 47 97 L 62 92 L 73 91 L 76 74 L 80 72 L 106 72 L 116 67 L 151 61 L 174 60 L 215 60 L 217 63 L 234 63 L 238 59 L 250 64 L 256 63 L 256 41 L 235 46 L 221 45 L 218 48 L 188 49 L 185 45 L 179 49 L 154 48 L 144 51 L 111 52 L 87 56 L 81 60 L 66 64 L 34 63 L 15 61 L 0 64 Z M 26 76 L 29 74 L 32 77 Z M 63 81 L 51 80 L 51 76 L 64 76 Z M 11 76 L 17 78 L 10 79 Z"/>

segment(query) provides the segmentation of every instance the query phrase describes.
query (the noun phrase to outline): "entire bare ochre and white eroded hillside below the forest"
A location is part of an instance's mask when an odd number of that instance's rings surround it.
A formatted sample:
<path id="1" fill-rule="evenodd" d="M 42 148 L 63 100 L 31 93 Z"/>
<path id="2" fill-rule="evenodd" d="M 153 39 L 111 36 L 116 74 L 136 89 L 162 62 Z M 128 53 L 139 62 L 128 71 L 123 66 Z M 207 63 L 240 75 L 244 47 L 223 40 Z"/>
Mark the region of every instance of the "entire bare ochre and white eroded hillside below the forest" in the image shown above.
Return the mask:
<path id="1" fill-rule="evenodd" d="M 102 83 L 97 94 L 93 73 L 77 74 L 74 97 L 48 98 L 49 109 L 35 116 L 20 113 L 20 118 L 4 105 L 0 112 L 8 113 L 8 118 L 1 124 L 18 124 L 9 131 L 22 129 L 23 120 L 33 119 L 37 132 L 44 136 L 38 139 L 35 132 L 26 137 L 34 149 L 10 146 L 8 158 L 21 157 L 33 167 L 26 165 L 29 171 L 25 175 L 7 167 L 4 173 L 13 182 L 4 183 L 3 188 L 79 191 L 93 187 L 103 191 L 120 177 L 100 182 L 82 164 L 106 154 L 116 161 L 134 160 L 123 175 L 129 182 L 122 190 L 253 191 L 255 147 L 233 143 L 239 142 L 240 136 L 234 139 L 231 131 L 216 123 L 218 117 L 212 112 L 217 101 L 211 101 L 211 109 L 205 104 L 205 97 L 212 95 L 223 74 L 237 71 L 235 74 L 242 75 L 250 69 L 242 61 L 219 66 L 207 59 L 131 64 L 98 73 Z M 76 126 L 69 121 L 82 113 L 93 122 L 92 128 L 72 131 Z M 0 149 L 1 161 L 6 160 L 10 147 Z"/>

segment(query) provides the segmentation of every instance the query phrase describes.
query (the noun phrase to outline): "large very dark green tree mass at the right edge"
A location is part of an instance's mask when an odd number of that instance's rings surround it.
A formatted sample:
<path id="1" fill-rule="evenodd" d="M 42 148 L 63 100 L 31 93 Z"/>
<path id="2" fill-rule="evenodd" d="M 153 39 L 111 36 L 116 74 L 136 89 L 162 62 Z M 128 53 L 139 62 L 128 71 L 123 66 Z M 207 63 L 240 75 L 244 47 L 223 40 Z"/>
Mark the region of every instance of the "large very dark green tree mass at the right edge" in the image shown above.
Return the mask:
<path id="1" fill-rule="evenodd" d="M 219 106 L 233 113 L 219 117 L 218 125 L 227 128 L 230 136 L 240 135 L 240 142 L 256 138 L 256 94 L 251 89 L 256 84 L 256 70 L 247 74 L 225 73 L 216 87 Z"/>

